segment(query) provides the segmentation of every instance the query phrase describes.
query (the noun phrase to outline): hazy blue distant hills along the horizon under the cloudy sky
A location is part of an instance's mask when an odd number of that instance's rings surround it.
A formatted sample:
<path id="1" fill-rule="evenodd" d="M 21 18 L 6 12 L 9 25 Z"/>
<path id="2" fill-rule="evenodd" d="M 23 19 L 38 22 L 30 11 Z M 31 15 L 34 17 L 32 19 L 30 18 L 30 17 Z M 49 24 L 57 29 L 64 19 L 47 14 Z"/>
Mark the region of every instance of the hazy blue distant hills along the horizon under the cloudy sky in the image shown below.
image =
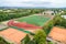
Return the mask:
<path id="1" fill-rule="evenodd" d="M 45 7 L 0 7 L 0 9 L 66 9 L 66 8 L 45 8 Z"/>

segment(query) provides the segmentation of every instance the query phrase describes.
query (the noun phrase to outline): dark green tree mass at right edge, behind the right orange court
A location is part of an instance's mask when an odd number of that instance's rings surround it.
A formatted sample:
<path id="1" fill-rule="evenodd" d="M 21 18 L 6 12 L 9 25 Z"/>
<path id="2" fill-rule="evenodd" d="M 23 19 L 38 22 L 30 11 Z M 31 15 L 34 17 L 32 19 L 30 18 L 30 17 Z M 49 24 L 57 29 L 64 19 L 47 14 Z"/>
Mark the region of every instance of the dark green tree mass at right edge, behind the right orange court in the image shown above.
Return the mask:
<path id="1" fill-rule="evenodd" d="M 62 18 L 61 15 L 56 15 L 53 19 L 54 25 L 58 25 L 58 26 L 64 26 L 66 28 L 66 19 Z"/>

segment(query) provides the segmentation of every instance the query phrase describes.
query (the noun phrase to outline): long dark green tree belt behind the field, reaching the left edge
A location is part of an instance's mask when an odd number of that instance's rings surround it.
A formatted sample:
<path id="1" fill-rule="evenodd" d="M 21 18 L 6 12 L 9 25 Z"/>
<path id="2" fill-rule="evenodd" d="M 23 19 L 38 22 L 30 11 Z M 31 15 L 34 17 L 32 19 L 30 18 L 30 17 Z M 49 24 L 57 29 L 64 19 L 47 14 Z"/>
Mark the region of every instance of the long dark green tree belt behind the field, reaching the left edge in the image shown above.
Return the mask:
<path id="1" fill-rule="evenodd" d="M 34 13 L 40 13 L 43 10 L 42 9 L 23 9 L 23 10 L 12 10 L 13 12 L 0 12 L 0 21 L 6 21 L 10 19 L 21 18 L 31 15 Z"/>

